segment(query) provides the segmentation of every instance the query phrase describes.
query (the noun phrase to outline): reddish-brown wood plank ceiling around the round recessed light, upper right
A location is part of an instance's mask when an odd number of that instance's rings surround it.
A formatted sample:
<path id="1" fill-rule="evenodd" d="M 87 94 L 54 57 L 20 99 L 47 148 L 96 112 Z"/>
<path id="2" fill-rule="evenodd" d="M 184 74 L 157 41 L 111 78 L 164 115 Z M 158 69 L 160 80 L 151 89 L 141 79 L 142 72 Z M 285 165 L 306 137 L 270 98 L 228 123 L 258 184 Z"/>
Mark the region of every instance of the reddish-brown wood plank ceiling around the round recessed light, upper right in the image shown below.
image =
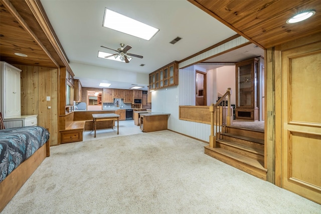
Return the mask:
<path id="1" fill-rule="evenodd" d="M 320 13 L 316 13 L 303 24 L 286 24 L 286 20 L 298 12 L 321 11 L 319 0 L 188 1 L 264 48 L 270 48 L 321 31 Z"/>

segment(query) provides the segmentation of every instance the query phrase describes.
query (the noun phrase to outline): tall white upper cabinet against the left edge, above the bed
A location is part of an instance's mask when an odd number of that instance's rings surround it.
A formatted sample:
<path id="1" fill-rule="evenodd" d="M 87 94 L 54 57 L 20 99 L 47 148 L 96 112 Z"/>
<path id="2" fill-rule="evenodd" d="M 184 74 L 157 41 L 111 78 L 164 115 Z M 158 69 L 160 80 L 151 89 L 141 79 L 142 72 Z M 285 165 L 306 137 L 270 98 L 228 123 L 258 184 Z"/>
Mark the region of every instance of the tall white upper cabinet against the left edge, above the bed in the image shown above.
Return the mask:
<path id="1" fill-rule="evenodd" d="M 1 62 L 1 111 L 3 118 L 21 116 L 21 88 L 19 68 Z"/>

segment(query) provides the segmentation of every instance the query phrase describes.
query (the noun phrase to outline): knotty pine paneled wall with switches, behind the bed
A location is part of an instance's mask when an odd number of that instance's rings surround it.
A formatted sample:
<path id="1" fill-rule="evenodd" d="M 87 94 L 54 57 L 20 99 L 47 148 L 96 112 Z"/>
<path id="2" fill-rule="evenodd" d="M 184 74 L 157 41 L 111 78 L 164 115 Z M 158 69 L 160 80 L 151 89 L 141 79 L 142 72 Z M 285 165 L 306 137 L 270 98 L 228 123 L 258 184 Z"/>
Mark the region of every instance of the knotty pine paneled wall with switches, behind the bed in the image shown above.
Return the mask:
<path id="1" fill-rule="evenodd" d="M 59 69 L 17 64 L 14 66 L 22 70 L 21 114 L 38 115 L 38 126 L 49 129 L 50 145 L 58 145 Z M 47 96 L 50 96 L 50 101 L 47 101 Z"/>

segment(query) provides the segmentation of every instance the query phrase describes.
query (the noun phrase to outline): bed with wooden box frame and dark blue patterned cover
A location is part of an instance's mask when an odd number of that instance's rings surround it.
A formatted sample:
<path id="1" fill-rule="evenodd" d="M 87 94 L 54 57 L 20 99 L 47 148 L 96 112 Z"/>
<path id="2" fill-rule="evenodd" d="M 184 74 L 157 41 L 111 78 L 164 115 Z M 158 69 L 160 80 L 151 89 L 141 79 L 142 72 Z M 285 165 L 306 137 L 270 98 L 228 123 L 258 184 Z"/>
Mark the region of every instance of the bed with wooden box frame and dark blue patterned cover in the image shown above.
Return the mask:
<path id="1" fill-rule="evenodd" d="M 40 126 L 0 130 L 0 212 L 50 155 L 49 132 Z"/>

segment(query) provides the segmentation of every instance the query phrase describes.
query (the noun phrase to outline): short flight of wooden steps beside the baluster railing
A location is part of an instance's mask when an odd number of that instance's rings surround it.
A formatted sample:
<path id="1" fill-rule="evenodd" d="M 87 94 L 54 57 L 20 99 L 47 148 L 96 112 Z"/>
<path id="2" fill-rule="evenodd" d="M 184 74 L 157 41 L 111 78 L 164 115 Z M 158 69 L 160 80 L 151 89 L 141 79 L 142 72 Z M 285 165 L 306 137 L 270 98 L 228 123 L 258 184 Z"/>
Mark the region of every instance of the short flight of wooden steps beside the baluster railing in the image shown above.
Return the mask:
<path id="1" fill-rule="evenodd" d="M 205 154 L 244 172 L 266 180 L 264 168 L 264 132 L 227 126 L 214 148 L 205 147 Z"/>

